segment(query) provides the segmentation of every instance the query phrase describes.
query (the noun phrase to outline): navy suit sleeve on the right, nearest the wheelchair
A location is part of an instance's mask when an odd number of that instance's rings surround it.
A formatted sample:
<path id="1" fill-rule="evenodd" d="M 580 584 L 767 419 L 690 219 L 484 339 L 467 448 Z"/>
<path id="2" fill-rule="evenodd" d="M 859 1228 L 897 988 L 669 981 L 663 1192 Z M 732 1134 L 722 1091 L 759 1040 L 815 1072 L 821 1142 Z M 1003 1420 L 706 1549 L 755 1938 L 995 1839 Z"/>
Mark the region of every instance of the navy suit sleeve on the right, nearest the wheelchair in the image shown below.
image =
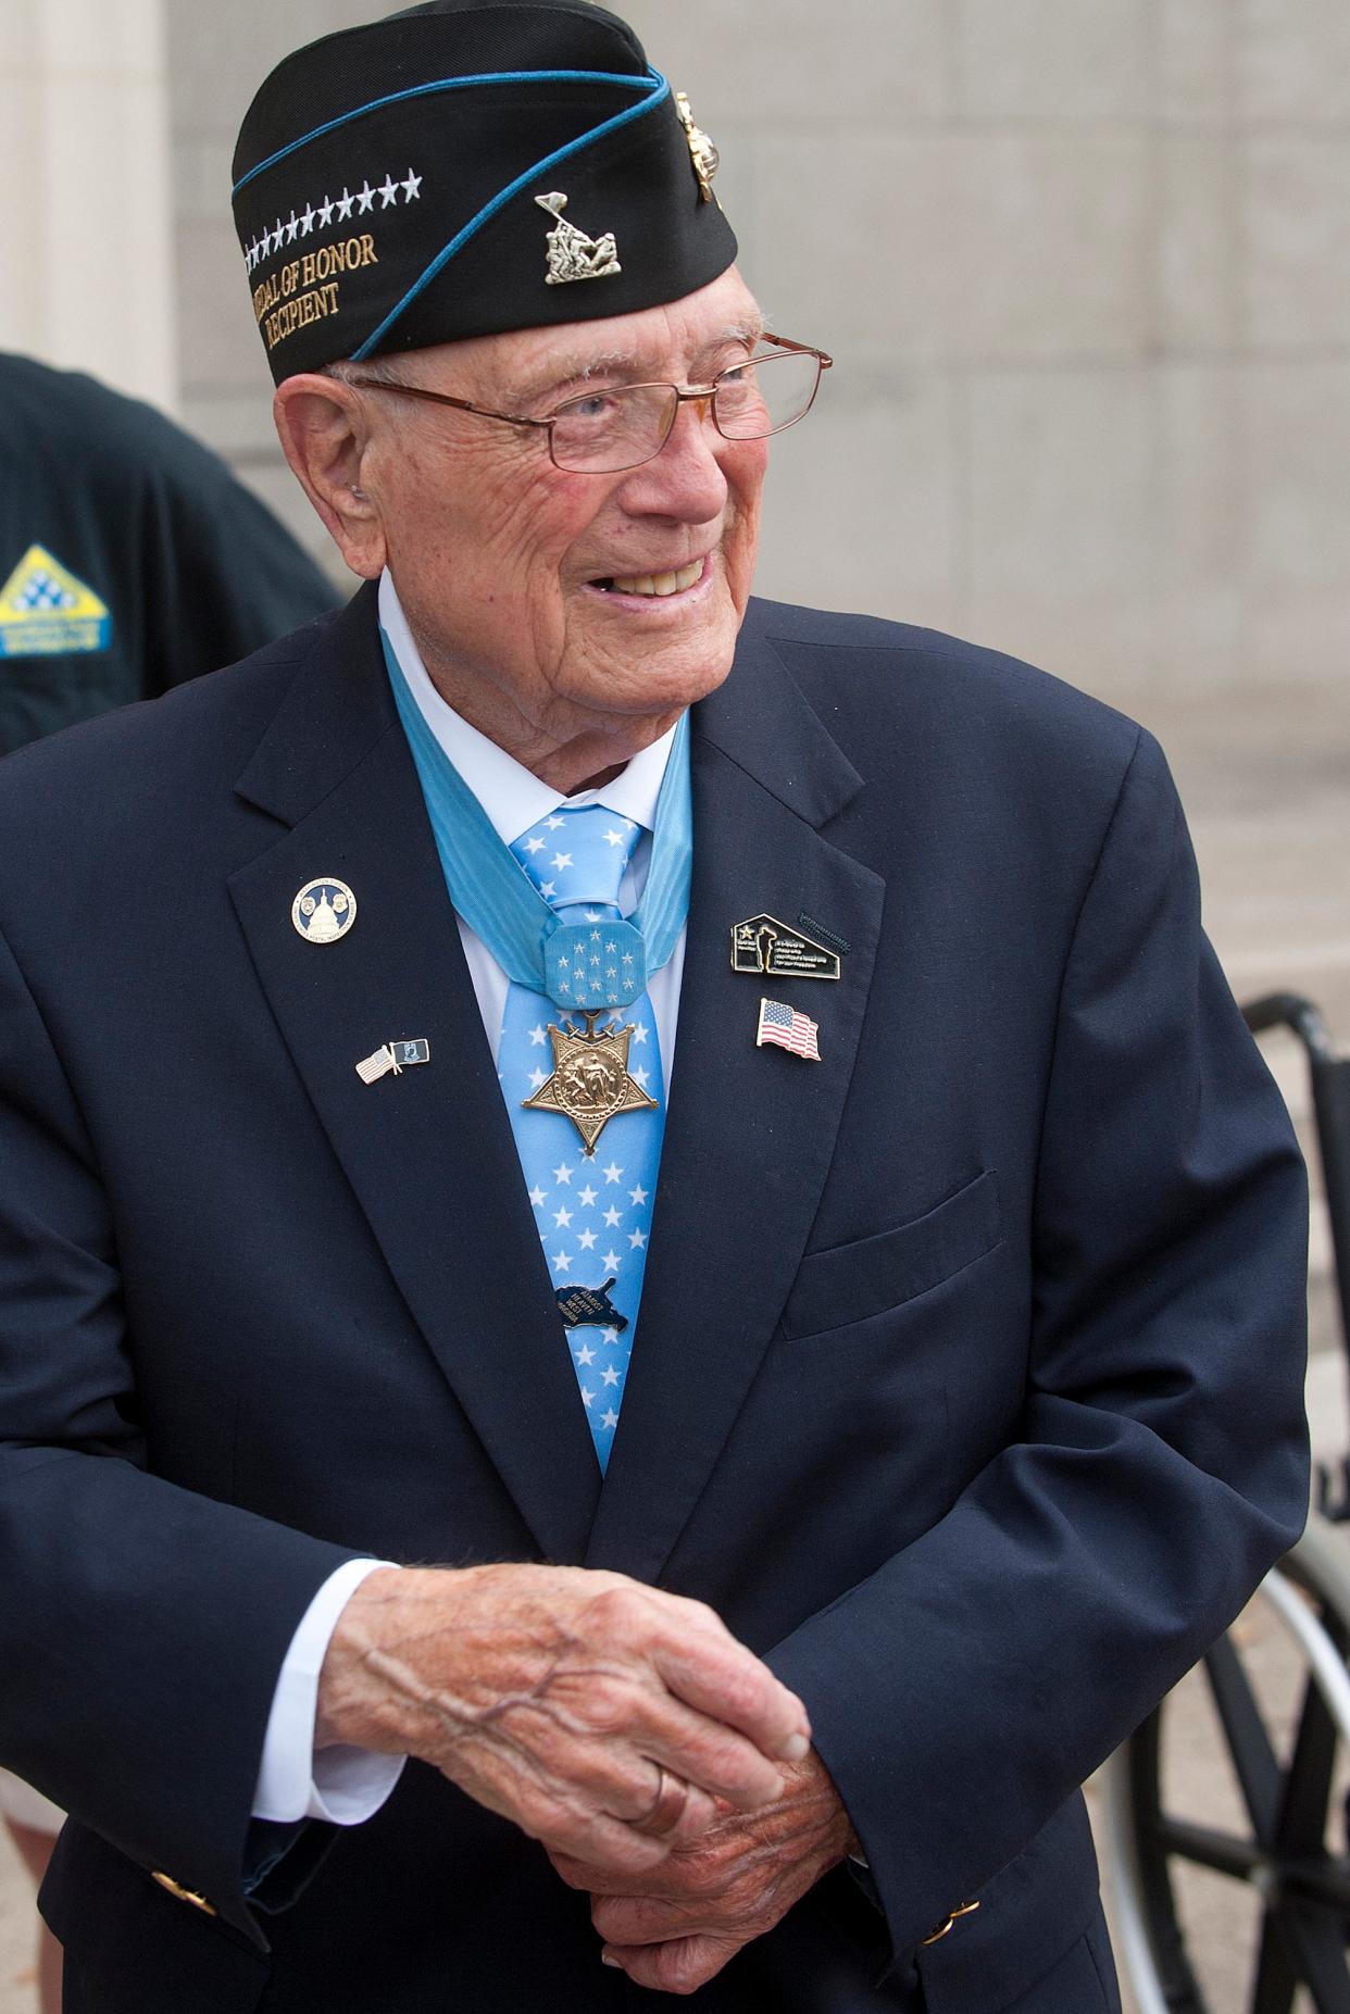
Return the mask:
<path id="1" fill-rule="evenodd" d="M 1032 1841 L 1306 1515 L 1302 1160 L 1146 735 L 1062 973 L 1034 1283 L 1018 1440 L 770 1656 L 897 1952 Z"/>

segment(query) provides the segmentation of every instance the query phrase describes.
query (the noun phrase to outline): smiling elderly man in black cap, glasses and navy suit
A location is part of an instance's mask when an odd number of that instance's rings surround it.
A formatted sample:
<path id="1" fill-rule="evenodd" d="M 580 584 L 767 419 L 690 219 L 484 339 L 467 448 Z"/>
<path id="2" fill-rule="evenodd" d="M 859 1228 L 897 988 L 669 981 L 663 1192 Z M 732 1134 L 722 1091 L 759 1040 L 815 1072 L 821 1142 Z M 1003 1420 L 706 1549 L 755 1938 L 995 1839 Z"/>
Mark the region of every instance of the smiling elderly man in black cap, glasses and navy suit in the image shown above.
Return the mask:
<path id="1" fill-rule="evenodd" d="M 1159 751 L 750 600 L 826 358 L 713 167 L 580 0 L 282 62 L 236 218 L 369 588 L 0 779 L 73 2014 L 1116 2008 L 1078 1784 L 1300 1527 Z"/>

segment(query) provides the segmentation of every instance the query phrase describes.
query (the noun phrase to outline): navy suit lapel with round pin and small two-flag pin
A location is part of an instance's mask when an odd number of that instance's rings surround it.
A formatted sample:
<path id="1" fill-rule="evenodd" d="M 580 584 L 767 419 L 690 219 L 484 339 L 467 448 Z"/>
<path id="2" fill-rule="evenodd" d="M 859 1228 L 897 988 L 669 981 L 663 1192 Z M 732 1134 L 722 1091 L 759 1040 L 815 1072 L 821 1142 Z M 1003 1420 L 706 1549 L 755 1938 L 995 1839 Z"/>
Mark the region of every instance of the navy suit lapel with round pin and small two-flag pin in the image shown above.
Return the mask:
<path id="1" fill-rule="evenodd" d="M 236 785 L 290 830 L 232 876 L 258 979 L 332 1150 L 459 1404 L 548 1559 L 576 1561 L 598 1494 L 590 1436 L 524 1194 L 373 594 L 306 661 Z M 332 945 L 290 922 L 345 880 Z M 367 1086 L 355 1063 L 421 1035 L 431 1063 Z"/>

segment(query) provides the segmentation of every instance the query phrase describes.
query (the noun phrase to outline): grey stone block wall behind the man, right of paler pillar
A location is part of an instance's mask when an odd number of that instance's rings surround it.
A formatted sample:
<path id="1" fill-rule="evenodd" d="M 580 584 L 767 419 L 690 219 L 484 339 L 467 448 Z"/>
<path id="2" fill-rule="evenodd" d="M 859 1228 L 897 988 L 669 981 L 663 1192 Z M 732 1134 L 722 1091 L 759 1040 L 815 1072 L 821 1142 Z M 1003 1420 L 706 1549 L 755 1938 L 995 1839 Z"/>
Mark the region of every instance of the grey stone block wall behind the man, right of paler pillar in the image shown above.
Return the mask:
<path id="1" fill-rule="evenodd" d="M 165 0 L 183 405 L 294 522 L 226 209 L 264 68 L 365 0 Z M 621 8 L 623 10 L 623 8 Z M 629 0 L 770 324 L 836 356 L 760 584 L 1124 705 L 1350 655 L 1344 0 Z"/>

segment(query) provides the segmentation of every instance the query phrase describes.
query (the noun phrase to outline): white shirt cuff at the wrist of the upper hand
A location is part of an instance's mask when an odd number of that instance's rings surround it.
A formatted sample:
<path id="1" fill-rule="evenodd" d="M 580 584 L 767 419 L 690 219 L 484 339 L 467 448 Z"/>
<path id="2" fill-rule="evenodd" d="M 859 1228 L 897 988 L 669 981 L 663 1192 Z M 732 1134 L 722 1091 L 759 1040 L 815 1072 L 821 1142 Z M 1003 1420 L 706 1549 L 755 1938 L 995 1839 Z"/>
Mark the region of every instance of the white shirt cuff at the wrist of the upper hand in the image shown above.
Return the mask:
<path id="1" fill-rule="evenodd" d="M 367 1575 L 387 1565 L 385 1559 L 349 1559 L 328 1575 L 300 1617 L 272 1694 L 254 1790 L 254 1819 L 276 1819 L 282 1825 L 300 1819 L 363 1825 L 375 1817 L 403 1774 L 405 1756 L 343 1746 L 314 1752 L 318 1674 L 339 1615 Z"/>

